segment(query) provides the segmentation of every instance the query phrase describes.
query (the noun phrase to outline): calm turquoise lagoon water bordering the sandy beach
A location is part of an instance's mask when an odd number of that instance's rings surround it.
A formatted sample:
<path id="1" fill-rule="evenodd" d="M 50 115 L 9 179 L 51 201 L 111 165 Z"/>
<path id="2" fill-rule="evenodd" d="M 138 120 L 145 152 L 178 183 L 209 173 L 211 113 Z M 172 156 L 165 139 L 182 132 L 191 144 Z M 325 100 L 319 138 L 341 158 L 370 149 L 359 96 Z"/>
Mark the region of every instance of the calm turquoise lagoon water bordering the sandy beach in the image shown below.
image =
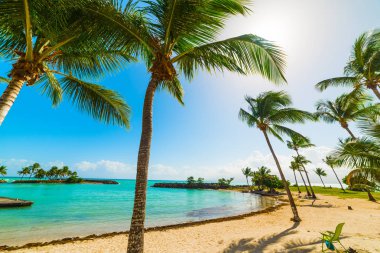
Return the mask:
<path id="1" fill-rule="evenodd" d="M 0 245 L 128 230 L 135 181 L 117 181 L 119 185 L 0 184 L 0 196 L 34 202 L 31 207 L 0 209 Z M 237 215 L 273 205 L 271 199 L 257 195 L 215 190 L 148 187 L 147 198 L 148 227 Z"/>

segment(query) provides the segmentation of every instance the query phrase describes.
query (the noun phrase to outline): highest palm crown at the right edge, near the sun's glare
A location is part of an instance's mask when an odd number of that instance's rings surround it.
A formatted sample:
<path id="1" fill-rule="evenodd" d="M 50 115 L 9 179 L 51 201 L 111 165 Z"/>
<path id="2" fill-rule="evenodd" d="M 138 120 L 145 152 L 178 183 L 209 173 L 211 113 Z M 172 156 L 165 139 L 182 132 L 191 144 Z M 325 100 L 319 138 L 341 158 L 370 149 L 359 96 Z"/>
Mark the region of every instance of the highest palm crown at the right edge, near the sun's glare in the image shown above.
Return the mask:
<path id="1" fill-rule="evenodd" d="M 355 41 L 344 76 L 319 82 L 316 87 L 325 90 L 332 86 L 370 89 L 380 99 L 380 32 L 366 32 Z"/>

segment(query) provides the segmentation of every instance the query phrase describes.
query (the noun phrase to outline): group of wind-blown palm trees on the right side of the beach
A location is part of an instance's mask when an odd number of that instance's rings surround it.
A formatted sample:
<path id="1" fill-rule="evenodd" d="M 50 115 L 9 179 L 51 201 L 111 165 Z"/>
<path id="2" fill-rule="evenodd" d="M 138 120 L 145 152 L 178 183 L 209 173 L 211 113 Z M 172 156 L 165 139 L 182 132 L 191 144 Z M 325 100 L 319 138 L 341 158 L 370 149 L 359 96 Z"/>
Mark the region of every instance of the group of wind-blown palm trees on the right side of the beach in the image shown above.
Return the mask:
<path id="1" fill-rule="evenodd" d="M 360 181 L 361 184 L 372 182 L 376 185 L 380 182 L 380 103 L 370 104 L 372 98 L 365 92 L 365 88 L 368 88 L 380 99 L 378 90 L 380 86 L 379 31 L 364 33 L 358 38 L 350 61 L 345 67 L 344 77 L 328 79 L 316 86 L 320 90 L 324 90 L 329 86 L 337 85 L 352 85 L 354 89 L 348 94 L 339 96 L 335 101 L 319 101 L 316 104 L 316 113 L 289 107 L 291 99 L 285 92 L 264 92 L 255 98 L 247 96 L 245 100 L 248 103 L 248 110 L 240 109 L 239 112 L 239 118 L 243 122 L 246 122 L 249 127 L 256 127 L 264 135 L 284 183 L 294 221 L 301 219 L 293 196 L 286 184 L 280 162 L 270 142 L 269 134 L 280 141 L 283 141 L 282 135 L 290 137 L 291 140 L 287 141 L 287 146 L 296 152 L 290 168 L 294 171 L 295 177 L 295 171 L 300 172 L 307 194 L 316 198 L 305 167 L 310 161 L 299 154 L 299 148 L 311 147 L 313 144 L 307 137 L 284 126 L 286 123 L 304 123 L 306 120 L 316 121 L 318 119 L 327 123 L 340 123 L 350 137 L 346 140 L 340 140 L 339 147 L 331 156 L 326 158 L 326 164 L 332 168 L 335 175 L 334 167 L 346 166 L 353 169 L 347 177 L 348 183 L 353 178 L 363 179 Z M 360 127 L 366 136 L 357 138 L 348 126 L 351 121 L 360 121 Z M 310 192 L 302 172 L 306 175 Z M 320 169 L 316 173 L 320 176 L 325 174 Z M 338 177 L 337 180 L 341 184 Z M 341 187 L 344 191 L 342 184 Z M 370 200 L 373 200 L 368 184 L 365 189 Z"/>

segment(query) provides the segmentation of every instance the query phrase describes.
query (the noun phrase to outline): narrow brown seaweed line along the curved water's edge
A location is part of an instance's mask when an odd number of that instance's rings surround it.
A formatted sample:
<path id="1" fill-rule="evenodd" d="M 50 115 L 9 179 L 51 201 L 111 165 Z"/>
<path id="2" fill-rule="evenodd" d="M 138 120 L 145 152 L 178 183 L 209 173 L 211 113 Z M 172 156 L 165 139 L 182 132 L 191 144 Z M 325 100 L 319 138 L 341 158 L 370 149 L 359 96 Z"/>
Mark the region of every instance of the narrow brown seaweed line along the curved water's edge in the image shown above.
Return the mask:
<path id="1" fill-rule="evenodd" d="M 149 228 L 145 228 L 145 232 L 166 231 L 166 230 L 171 230 L 171 229 L 180 229 L 180 228 L 185 228 L 185 227 L 200 226 L 203 224 L 218 223 L 218 222 L 231 221 L 231 220 L 240 220 L 240 219 L 244 219 L 246 217 L 256 216 L 256 215 L 263 214 L 263 213 L 275 212 L 284 205 L 286 205 L 285 201 L 283 201 L 283 200 L 280 201 L 279 198 L 276 198 L 276 201 L 272 206 L 269 206 L 269 207 L 264 208 L 262 210 L 253 211 L 253 212 L 244 213 L 244 214 L 239 214 L 239 215 L 221 217 L 221 218 L 207 219 L 207 220 L 201 220 L 201 221 L 192 221 L 192 222 L 178 223 L 178 224 L 165 225 L 165 226 L 149 227 Z M 121 231 L 121 232 L 110 232 L 110 233 L 104 233 L 104 234 L 92 234 L 92 235 L 88 235 L 88 236 L 84 236 L 84 237 L 79 237 L 79 236 L 77 236 L 77 237 L 66 237 L 63 239 L 52 240 L 52 241 L 48 241 L 48 242 L 27 243 L 27 244 L 24 244 L 21 246 L 0 245 L 0 251 L 13 251 L 13 250 L 19 250 L 19 249 L 30 249 L 30 248 L 35 248 L 35 247 L 43 247 L 43 246 L 48 246 L 48 245 L 61 245 L 61 244 L 87 241 L 87 240 L 93 240 L 93 239 L 109 238 L 109 237 L 114 237 L 117 235 L 128 235 L 128 233 L 129 233 L 129 231 Z"/>

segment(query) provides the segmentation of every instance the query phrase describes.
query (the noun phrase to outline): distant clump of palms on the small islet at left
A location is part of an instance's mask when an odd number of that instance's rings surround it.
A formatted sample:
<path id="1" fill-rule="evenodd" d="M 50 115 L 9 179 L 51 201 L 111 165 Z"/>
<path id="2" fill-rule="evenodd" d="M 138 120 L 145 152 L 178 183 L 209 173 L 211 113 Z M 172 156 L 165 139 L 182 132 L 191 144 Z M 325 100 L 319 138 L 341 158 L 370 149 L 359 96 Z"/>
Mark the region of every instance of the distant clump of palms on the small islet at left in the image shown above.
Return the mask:
<path id="1" fill-rule="evenodd" d="M 39 163 L 34 163 L 31 166 L 27 166 L 22 168 L 17 172 L 18 175 L 21 176 L 21 180 L 24 176 L 29 176 L 31 179 L 48 179 L 48 180 L 66 180 L 68 178 L 77 178 L 78 173 L 76 171 L 71 171 L 68 166 L 63 166 L 62 168 L 58 168 L 57 166 L 51 167 L 49 170 L 44 170 L 41 168 Z"/>

